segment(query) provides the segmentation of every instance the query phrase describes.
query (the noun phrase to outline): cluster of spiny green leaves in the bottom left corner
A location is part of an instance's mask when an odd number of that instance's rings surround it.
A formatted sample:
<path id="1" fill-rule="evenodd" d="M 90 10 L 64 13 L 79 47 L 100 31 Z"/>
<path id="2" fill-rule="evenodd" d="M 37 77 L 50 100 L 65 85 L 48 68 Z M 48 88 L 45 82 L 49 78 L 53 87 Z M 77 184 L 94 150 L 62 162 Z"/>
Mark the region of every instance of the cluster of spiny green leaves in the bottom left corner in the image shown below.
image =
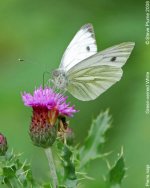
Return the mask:
<path id="1" fill-rule="evenodd" d="M 22 163 L 19 157 L 13 152 L 0 157 L 0 184 L 16 188 L 34 185 L 30 165 Z"/>

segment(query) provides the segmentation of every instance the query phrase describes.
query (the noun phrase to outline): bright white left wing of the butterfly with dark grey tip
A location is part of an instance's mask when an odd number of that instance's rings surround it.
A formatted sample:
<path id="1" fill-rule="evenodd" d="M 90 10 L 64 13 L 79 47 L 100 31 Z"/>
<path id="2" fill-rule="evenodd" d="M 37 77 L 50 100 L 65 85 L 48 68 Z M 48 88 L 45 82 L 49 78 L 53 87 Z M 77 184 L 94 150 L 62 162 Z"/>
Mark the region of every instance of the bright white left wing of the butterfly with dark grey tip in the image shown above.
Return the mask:
<path id="1" fill-rule="evenodd" d="M 68 71 L 97 52 L 93 26 L 86 24 L 77 32 L 67 47 L 59 68 Z"/>

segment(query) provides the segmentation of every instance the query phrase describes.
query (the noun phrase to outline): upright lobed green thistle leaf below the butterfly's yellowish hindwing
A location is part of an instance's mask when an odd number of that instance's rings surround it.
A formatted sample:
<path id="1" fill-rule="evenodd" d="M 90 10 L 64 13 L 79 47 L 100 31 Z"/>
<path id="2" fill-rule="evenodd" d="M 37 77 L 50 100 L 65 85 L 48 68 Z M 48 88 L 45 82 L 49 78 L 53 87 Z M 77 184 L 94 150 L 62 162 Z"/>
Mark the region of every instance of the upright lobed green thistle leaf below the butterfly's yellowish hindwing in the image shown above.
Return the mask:
<path id="1" fill-rule="evenodd" d="M 108 111 L 100 113 L 100 115 L 92 122 L 84 146 L 80 148 L 81 168 L 87 165 L 91 160 L 104 155 L 101 149 L 106 141 L 106 132 L 110 126 L 111 117 L 108 115 Z"/>

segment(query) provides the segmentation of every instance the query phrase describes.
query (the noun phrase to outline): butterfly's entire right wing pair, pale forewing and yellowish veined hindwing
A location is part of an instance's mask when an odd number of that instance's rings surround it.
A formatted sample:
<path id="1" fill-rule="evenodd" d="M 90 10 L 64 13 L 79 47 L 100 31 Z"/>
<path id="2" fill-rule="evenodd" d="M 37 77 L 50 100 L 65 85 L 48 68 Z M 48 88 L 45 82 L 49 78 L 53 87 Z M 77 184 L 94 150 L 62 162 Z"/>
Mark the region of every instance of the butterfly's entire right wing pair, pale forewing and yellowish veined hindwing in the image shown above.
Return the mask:
<path id="1" fill-rule="evenodd" d="M 133 42 L 126 42 L 101 51 L 76 64 L 67 72 L 68 91 L 77 99 L 89 101 L 119 81 L 132 49 Z"/>

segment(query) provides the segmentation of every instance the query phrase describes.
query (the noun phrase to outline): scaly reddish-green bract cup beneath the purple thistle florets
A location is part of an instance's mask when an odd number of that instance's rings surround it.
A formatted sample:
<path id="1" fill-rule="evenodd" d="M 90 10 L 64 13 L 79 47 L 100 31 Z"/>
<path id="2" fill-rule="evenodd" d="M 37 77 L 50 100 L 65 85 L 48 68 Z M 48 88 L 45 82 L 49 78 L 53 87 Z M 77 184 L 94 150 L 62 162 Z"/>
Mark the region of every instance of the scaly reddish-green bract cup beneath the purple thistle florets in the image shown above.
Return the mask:
<path id="1" fill-rule="evenodd" d="M 57 117 L 57 110 L 48 110 L 46 107 L 33 108 L 29 134 L 34 145 L 43 148 L 53 145 L 57 137 Z"/>

